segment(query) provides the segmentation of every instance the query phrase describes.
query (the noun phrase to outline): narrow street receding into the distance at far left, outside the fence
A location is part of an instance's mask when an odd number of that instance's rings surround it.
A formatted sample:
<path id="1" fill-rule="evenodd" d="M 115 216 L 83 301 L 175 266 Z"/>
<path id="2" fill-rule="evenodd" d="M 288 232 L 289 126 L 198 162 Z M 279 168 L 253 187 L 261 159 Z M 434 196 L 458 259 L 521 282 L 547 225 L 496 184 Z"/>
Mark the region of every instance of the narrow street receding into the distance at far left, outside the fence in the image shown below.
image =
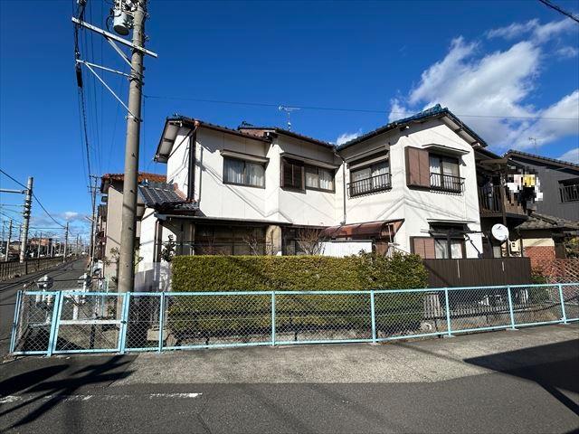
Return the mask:
<path id="1" fill-rule="evenodd" d="M 37 273 L 28 274 L 22 278 L 13 278 L 0 282 L 0 359 L 8 353 L 12 322 L 14 320 L 14 304 L 16 292 L 22 289 L 25 283 L 31 282 L 44 275 L 55 279 L 55 287 L 59 284 L 76 284 L 72 279 L 79 278 L 86 271 L 86 259 L 78 259 L 74 262 L 57 266 L 53 269 L 44 269 Z M 71 279 L 70 282 L 64 280 Z M 60 282 L 59 280 L 63 280 Z"/>

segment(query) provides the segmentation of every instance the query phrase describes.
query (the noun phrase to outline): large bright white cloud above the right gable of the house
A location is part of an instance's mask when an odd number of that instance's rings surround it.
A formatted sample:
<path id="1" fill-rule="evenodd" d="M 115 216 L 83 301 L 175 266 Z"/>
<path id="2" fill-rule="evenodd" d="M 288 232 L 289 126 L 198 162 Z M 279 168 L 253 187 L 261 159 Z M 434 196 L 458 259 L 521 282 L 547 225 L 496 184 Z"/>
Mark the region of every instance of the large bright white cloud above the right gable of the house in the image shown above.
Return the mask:
<path id="1" fill-rule="evenodd" d="M 390 120 L 440 103 L 489 144 L 501 148 L 527 147 L 528 137 L 537 137 L 540 145 L 545 145 L 560 137 L 579 135 L 579 90 L 570 90 L 546 109 L 528 102 L 543 66 L 543 45 L 538 41 L 563 32 L 566 26 L 566 20 L 544 25 L 533 20 L 495 29 L 491 31 L 494 35 L 507 36 L 509 32 L 531 32 L 532 28 L 536 39 L 486 54 L 480 53 L 476 42 L 454 39 L 447 55 L 422 72 L 420 82 L 405 100 L 391 100 Z"/>

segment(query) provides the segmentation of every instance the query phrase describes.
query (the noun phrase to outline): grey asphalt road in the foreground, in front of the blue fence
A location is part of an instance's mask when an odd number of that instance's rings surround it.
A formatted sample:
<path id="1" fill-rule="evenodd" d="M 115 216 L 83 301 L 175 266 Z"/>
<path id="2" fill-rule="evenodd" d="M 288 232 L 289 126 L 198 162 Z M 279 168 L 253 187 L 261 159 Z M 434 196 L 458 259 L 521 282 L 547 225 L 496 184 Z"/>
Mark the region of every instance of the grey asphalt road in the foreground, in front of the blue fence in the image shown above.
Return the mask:
<path id="1" fill-rule="evenodd" d="M 0 366 L 0 431 L 576 433 L 579 327 L 566 327 L 377 346 L 23 358 Z M 270 377 L 274 366 L 261 369 L 269 354 L 288 361 L 283 382 Z M 239 382 L 251 364 L 253 381 Z M 327 365 L 343 372 L 312 382 Z"/>

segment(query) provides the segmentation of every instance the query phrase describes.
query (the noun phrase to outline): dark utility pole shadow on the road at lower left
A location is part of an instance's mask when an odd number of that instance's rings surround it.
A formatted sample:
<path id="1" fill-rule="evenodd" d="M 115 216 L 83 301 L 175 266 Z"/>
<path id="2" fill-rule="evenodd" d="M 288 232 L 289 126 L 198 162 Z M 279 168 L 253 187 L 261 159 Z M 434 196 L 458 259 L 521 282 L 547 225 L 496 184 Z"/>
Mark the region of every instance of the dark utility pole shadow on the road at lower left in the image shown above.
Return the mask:
<path id="1" fill-rule="evenodd" d="M 7 410 L 0 410 L 0 419 L 15 410 L 28 407 L 24 418 L 14 422 L 9 429 L 23 426 L 40 418 L 44 413 L 52 410 L 60 401 L 78 391 L 83 386 L 102 384 L 108 386 L 112 382 L 127 378 L 133 371 L 129 371 L 128 364 L 133 357 L 116 355 L 100 362 L 101 358 L 94 358 L 95 363 L 79 366 L 71 363 L 61 363 L 38 368 L 33 371 L 16 374 L 0 382 L 0 395 L 8 396 L 16 392 L 32 394 L 30 400 L 23 401 Z M 59 375 L 60 374 L 60 375 Z M 54 377 L 57 378 L 54 378 Z M 47 400 L 47 401 L 44 401 Z M 34 409 L 35 402 L 43 401 Z M 71 414 L 71 421 L 76 419 Z M 77 420 L 78 422 L 78 420 Z M 78 425 L 76 425 L 78 427 Z"/>

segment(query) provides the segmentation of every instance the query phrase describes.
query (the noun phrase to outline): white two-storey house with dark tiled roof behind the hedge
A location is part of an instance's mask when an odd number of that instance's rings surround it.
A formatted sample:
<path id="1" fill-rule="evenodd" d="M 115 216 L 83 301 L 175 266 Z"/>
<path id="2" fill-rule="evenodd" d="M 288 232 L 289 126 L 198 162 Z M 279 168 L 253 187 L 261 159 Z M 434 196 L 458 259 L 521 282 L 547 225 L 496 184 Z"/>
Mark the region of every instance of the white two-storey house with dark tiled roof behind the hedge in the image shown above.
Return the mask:
<path id="1" fill-rule="evenodd" d="M 142 263 L 158 262 L 169 235 L 177 254 L 285 255 L 302 252 L 311 232 L 352 253 L 359 241 L 479 258 L 475 150 L 484 146 L 440 106 L 341 146 L 279 127 L 168 118 L 155 156 L 167 184 L 139 189 Z M 157 202 L 147 199 L 155 189 Z"/>

